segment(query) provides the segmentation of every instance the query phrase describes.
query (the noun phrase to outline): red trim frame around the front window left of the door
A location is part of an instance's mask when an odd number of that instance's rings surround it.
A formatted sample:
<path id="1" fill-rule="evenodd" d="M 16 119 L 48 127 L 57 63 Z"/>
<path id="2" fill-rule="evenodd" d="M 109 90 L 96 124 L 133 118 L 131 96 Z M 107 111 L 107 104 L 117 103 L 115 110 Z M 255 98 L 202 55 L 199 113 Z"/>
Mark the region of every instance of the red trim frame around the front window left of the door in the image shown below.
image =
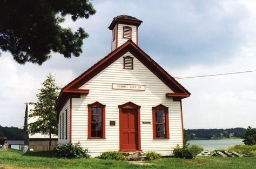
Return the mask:
<path id="1" fill-rule="evenodd" d="M 102 137 L 91 137 L 91 108 L 92 107 L 100 107 L 102 108 Z M 89 139 L 104 139 L 105 138 L 105 110 L 106 105 L 103 105 L 99 102 L 95 102 L 92 104 L 88 104 L 88 136 Z"/>

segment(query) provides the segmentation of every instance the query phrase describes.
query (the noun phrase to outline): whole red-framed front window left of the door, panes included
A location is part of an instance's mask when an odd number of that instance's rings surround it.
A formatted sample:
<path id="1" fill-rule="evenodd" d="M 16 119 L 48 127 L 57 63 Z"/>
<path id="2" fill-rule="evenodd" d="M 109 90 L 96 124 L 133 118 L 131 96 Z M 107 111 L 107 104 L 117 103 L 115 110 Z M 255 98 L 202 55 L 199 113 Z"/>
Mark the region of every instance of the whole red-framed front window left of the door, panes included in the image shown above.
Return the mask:
<path id="1" fill-rule="evenodd" d="M 105 105 L 88 105 L 88 138 L 105 138 Z"/>

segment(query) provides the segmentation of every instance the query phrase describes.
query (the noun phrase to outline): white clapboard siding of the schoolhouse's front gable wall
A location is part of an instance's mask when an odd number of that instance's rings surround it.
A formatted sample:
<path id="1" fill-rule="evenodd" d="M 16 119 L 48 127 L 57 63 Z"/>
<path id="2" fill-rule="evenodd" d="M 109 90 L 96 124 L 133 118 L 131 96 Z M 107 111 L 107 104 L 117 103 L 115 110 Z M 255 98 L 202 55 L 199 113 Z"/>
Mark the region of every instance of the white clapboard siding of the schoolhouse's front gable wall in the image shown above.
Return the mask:
<path id="1" fill-rule="evenodd" d="M 119 24 L 119 26 L 122 26 Z M 122 30 L 122 29 L 118 29 Z M 120 35 L 119 35 L 120 36 Z M 119 150 L 119 109 L 118 105 L 133 102 L 140 105 L 140 134 L 143 151 L 157 151 L 164 156 L 171 155 L 173 148 L 183 145 L 180 102 L 166 98 L 165 93 L 173 93 L 137 58 L 127 52 L 124 56 L 133 57 L 133 70 L 123 69 L 123 57 L 117 59 L 102 72 L 79 89 L 89 89 L 89 94 L 80 98 L 72 98 L 72 143 L 78 143 L 89 148 L 91 156 L 100 152 Z M 113 83 L 146 85 L 145 91 L 114 90 Z M 106 105 L 105 139 L 87 139 L 87 105 L 95 102 Z M 169 107 L 170 139 L 153 139 L 152 107 L 163 104 Z M 65 109 L 65 108 L 64 108 Z M 116 121 L 116 126 L 110 126 L 110 120 Z M 143 124 L 150 121 L 151 124 Z"/>

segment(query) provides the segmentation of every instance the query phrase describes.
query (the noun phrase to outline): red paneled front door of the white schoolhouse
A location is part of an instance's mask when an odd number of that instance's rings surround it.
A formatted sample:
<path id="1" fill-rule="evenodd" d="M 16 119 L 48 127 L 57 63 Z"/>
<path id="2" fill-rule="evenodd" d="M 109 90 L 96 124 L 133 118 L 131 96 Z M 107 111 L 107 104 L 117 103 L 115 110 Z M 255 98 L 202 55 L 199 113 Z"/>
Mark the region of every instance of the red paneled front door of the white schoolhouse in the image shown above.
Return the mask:
<path id="1" fill-rule="evenodd" d="M 120 150 L 138 150 L 137 109 L 122 109 L 120 113 Z"/>

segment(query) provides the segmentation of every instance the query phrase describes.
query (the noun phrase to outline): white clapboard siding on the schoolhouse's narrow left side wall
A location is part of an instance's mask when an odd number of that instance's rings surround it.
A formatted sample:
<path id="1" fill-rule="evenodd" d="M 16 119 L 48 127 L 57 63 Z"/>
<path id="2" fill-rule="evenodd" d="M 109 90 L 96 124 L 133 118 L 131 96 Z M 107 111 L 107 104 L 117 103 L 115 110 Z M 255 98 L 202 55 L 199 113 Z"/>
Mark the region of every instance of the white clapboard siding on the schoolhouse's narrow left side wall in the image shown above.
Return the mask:
<path id="1" fill-rule="evenodd" d="M 67 110 L 67 114 L 68 114 L 68 123 L 66 124 L 66 110 Z M 64 116 L 63 116 L 64 114 Z M 60 119 L 61 116 L 61 119 Z M 62 120 L 64 118 L 64 120 Z M 64 121 L 64 125 L 62 125 L 62 121 Z M 61 128 L 60 128 L 60 124 L 61 124 Z M 67 125 L 67 136 L 66 136 L 66 125 Z M 59 124 L 58 124 L 58 144 L 67 144 L 69 143 L 69 131 L 70 131 L 70 99 L 68 99 L 68 101 L 65 103 L 65 105 L 63 106 L 62 110 L 59 113 Z M 64 132 L 62 132 L 62 127 L 64 126 Z M 61 130 L 60 130 L 61 129 Z M 60 134 L 61 132 L 61 134 Z M 64 135 L 63 135 L 64 133 Z M 61 135 L 61 138 L 60 138 Z M 64 136 L 64 139 L 62 139 Z M 67 139 L 66 139 L 67 138 Z"/>

